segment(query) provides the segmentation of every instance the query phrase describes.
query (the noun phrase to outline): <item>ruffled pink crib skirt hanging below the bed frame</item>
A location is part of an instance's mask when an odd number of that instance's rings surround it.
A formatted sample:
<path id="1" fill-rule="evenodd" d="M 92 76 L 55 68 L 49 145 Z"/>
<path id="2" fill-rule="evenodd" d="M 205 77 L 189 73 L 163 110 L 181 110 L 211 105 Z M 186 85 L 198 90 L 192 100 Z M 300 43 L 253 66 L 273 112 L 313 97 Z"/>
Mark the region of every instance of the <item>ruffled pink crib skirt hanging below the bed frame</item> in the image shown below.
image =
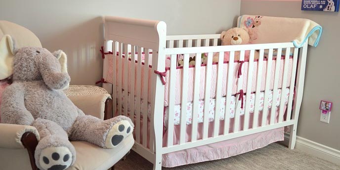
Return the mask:
<path id="1" fill-rule="evenodd" d="M 286 106 L 284 110 L 286 110 Z M 278 122 L 278 109 L 276 109 L 275 113 L 275 123 Z M 270 120 L 270 110 L 268 110 L 268 116 L 266 125 L 269 125 Z M 250 124 L 249 128 L 253 127 L 253 118 L 254 114 L 250 114 Z M 262 111 L 259 112 L 258 115 L 258 127 L 261 125 L 262 121 Z M 134 123 L 136 119 L 134 119 Z M 243 130 L 244 124 L 244 116 L 240 117 L 240 126 L 239 130 Z M 140 121 L 140 141 L 142 144 L 143 141 L 143 122 Z M 148 121 L 148 130 L 147 130 L 147 147 L 149 148 L 149 139 L 150 139 L 150 121 Z M 219 134 L 223 134 L 224 121 L 220 121 Z M 230 119 L 229 123 L 229 133 L 233 132 L 234 127 L 234 118 Z M 173 130 L 173 144 L 179 144 L 179 134 L 180 134 L 180 125 L 175 125 Z M 135 134 L 134 134 L 135 135 Z M 197 139 L 202 139 L 203 135 L 203 123 L 198 124 L 198 132 Z M 213 136 L 213 122 L 209 123 L 209 131 L 208 136 Z M 163 135 L 163 147 L 167 146 L 168 140 L 168 131 L 166 130 Z M 282 141 L 284 140 L 284 127 L 267 130 L 255 134 L 250 134 L 247 136 L 242 136 L 234 139 L 229 139 L 221 142 L 216 142 L 204 146 L 198 146 L 190 149 L 180 150 L 176 152 L 171 152 L 168 154 L 162 155 L 162 166 L 163 167 L 177 167 L 181 165 L 194 164 L 204 161 L 212 161 L 217 159 L 228 158 L 231 156 L 239 155 L 242 153 L 246 153 L 249 151 L 253 151 L 258 148 L 262 148 L 264 146 L 269 145 L 270 143 Z M 185 141 L 191 141 L 191 125 L 186 125 L 186 136 Z"/>

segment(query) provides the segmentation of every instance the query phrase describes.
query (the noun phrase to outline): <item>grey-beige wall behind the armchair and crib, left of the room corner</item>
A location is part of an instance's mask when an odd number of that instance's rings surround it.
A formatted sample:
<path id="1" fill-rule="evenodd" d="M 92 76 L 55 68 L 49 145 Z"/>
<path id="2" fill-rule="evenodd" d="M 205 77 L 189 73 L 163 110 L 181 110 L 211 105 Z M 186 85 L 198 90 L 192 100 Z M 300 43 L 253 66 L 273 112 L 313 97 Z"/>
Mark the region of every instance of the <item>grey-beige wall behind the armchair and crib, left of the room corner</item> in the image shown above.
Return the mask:
<path id="1" fill-rule="evenodd" d="M 68 54 L 71 84 L 102 77 L 103 15 L 163 20 L 168 34 L 215 34 L 236 24 L 240 0 L 0 0 L 0 20 L 34 32 Z"/>

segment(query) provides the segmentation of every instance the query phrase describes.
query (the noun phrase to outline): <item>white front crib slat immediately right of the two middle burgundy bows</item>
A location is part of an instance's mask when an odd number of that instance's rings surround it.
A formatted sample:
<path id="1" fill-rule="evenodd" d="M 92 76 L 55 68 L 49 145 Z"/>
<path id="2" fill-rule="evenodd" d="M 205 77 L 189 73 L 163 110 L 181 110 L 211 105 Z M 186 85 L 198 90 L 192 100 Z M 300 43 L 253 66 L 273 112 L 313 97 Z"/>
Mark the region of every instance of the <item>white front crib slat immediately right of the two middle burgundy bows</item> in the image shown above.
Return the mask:
<path id="1" fill-rule="evenodd" d="M 247 95 L 245 102 L 245 112 L 244 112 L 244 124 L 243 130 L 248 130 L 249 127 L 249 111 L 250 111 L 250 97 L 252 95 L 252 83 L 253 83 L 253 71 L 254 71 L 254 54 L 255 50 L 250 51 L 249 62 L 248 62 L 248 74 L 247 74 Z"/>

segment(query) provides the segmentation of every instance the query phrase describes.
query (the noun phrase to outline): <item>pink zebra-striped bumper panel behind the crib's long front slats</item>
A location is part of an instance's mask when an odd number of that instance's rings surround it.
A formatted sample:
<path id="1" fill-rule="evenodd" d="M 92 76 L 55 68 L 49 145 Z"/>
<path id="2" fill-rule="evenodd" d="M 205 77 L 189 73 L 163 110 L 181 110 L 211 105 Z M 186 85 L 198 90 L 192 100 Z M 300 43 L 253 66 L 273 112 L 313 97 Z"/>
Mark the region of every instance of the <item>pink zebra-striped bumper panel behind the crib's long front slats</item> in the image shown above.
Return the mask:
<path id="1" fill-rule="evenodd" d="M 287 87 L 290 85 L 290 77 L 292 73 L 292 62 L 293 60 L 289 60 L 289 70 L 288 73 L 288 79 L 287 81 Z M 274 73 L 275 73 L 275 63 L 276 60 L 273 60 L 272 63 L 272 70 L 271 70 L 271 76 L 270 76 L 270 89 L 273 89 L 274 84 Z M 281 67 L 280 67 L 280 76 L 279 76 L 279 88 L 282 86 L 282 77 L 283 77 L 283 67 L 284 67 L 284 60 L 281 60 Z M 227 74 L 228 74 L 228 63 L 223 64 L 223 75 L 222 75 L 222 96 L 226 95 L 226 85 L 227 85 Z M 239 69 L 240 63 L 234 63 L 234 69 L 233 69 L 233 87 L 232 87 L 232 95 L 236 94 L 237 91 L 237 72 Z M 267 61 L 263 62 L 262 67 L 262 82 L 261 82 L 261 91 L 264 90 L 265 87 L 265 74 L 266 74 L 266 68 L 267 68 Z M 183 69 L 176 69 L 176 85 L 175 85 L 175 105 L 181 104 L 181 86 L 182 86 L 182 71 Z M 206 81 L 206 66 L 201 67 L 201 79 L 200 79 L 200 100 L 204 99 L 204 93 L 205 93 L 205 81 Z M 211 98 L 215 98 L 216 94 L 216 82 L 217 82 L 217 64 L 213 65 L 212 69 L 212 78 L 211 78 Z M 195 75 L 195 68 L 191 67 L 189 68 L 189 80 L 188 80 L 188 102 L 193 101 L 193 89 L 194 89 L 194 75 Z M 243 63 L 242 66 L 242 75 L 243 75 L 243 84 L 242 89 L 246 93 L 247 88 L 247 76 L 248 76 L 248 62 Z M 169 100 L 169 90 L 170 90 L 170 81 L 169 81 L 170 71 L 167 71 L 167 76 L 165 78 L 166 85 L 165 85 L 165 96 L 164 96 L 164 106 L 168 106 L 168 100 Z M 252 81 L 252 92 L 256 89 L 256 77 L 257 77 L 257 61 L 254 62 L 254 69 L 253 69 L 253 81 Z M 150 91 L 149 91 L 150 92 Z"/>

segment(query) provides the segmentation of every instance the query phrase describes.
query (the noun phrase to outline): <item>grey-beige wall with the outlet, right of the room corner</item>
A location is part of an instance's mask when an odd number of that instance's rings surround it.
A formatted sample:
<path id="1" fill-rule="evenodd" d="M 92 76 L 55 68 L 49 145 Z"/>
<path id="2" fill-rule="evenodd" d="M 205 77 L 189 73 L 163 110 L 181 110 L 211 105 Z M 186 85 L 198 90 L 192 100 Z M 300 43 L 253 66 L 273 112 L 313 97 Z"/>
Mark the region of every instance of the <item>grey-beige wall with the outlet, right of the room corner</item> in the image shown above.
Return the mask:
<path id="1" fill-rule="evenodd" d="M 300 7 L 301 1 L 241 1 L 241 14 L 308 18 L 323 27 L 319 46 L 308 48 L 298 136 L 340 150 L 340 14 Z M 320 100 L 334 104 L 330 124 L 320 122 Z"/>

